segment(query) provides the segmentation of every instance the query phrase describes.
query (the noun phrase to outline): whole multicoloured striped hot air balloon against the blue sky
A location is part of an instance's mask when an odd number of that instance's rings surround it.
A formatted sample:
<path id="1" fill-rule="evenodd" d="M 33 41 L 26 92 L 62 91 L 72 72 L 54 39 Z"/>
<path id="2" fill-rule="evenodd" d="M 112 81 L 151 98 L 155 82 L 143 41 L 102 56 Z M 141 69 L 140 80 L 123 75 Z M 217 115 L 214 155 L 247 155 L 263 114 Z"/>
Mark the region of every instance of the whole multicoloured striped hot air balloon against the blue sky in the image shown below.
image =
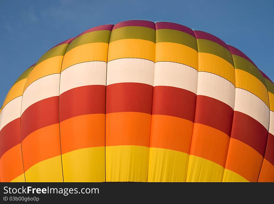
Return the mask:
<path id="1" fill-rule="evenodd" d="M 1 182 L 274 182 L 274 84 L 243 52 L 171 22 L 91 28 L 17 79 Z"/>

